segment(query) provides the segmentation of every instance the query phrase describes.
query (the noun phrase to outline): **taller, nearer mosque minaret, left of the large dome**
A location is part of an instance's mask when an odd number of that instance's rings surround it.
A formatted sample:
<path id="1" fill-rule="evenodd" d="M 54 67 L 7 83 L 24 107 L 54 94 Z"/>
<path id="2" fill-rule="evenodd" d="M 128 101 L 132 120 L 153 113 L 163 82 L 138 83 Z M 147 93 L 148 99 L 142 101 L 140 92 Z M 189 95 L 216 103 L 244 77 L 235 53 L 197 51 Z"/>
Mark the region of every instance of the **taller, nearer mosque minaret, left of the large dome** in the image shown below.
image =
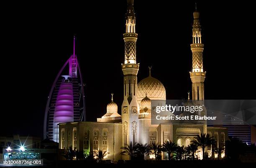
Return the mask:
<path id="1" fill-rule="evenodd" d="M 125 42 L 125 60 L 122 64 L 124 75 L 124 92 L 122 104 L 122 146 L 130 142 L 138 143 L 138 111 L 137 101 L 137 74 L 139 64 L 136 63 L 136 41 L 138 34 L 135 33 L 135 13 L 133 0 L 127 0 L 126 30 L 123 34 Z"/>

